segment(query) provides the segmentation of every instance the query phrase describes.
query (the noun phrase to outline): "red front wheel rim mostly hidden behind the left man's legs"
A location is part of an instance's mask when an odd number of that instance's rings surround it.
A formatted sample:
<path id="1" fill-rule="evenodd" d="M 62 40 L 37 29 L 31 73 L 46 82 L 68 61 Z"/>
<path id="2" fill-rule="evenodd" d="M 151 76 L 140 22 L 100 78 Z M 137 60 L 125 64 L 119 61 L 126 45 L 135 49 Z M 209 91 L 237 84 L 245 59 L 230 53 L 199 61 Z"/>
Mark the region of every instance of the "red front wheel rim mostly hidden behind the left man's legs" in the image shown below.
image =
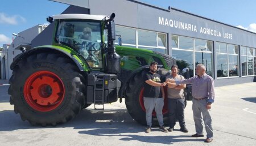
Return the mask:
<path id="1" fill-rule="evenodd" d="M 144 87 L 141 89 L 141 93 L 139 93 L 139 104 L 141 105 L 141 108 L 143 111 L 146 112 L 145 106 L 144 106 L 144 101 L 143 101 L 143 92 L 144 92 Z M 165 93 L 165 97 L 164 97 L 164 107 L 163 107 L 163 114 L 168 113 L 168 100 L 167 100 L 167 89 L 166 87 L 164 87 L 164 93 Z M 156 116 L 155 110 L 153 110 L 152 112 L 153 116 Z"/>

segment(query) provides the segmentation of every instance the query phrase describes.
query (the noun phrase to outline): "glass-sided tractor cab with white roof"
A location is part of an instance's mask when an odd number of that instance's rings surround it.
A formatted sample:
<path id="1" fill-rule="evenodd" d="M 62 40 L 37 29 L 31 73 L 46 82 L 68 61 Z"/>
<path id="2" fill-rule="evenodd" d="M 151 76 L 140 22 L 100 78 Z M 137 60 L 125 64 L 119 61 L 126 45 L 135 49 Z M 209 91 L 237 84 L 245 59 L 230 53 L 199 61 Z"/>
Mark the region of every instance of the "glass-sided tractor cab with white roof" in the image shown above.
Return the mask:
<path id="1" fill-rule="evenodd" d="M 102 21 L 106 16 L 63 14 L 53 19 L 58 22 L 55 41 L 77 51 L 91 68 L 102 68 Z"/>

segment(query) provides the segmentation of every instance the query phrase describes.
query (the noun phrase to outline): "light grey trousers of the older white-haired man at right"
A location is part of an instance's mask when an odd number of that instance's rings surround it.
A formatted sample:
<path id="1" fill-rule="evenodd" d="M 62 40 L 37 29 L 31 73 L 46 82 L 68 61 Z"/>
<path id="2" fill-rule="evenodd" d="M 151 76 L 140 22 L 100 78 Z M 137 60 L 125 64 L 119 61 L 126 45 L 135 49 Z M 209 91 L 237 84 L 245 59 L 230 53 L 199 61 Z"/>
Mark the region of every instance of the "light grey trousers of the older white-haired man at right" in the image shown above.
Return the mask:
<path id="1" fill-rule="evenodd" d="M 205 100 L 195 100 L 193 99 L 193 117 L 196 126 L 196 134 L 203 135 L 203 120 L 205 131 L 207 132 L 207 138 L 213 138 L 213 127 L 212 127 L 212 117 L 210 116 L 210 110 L 207 110 L 207 99 Z M 202 118 L 203 115 L 203 118 Z"/>

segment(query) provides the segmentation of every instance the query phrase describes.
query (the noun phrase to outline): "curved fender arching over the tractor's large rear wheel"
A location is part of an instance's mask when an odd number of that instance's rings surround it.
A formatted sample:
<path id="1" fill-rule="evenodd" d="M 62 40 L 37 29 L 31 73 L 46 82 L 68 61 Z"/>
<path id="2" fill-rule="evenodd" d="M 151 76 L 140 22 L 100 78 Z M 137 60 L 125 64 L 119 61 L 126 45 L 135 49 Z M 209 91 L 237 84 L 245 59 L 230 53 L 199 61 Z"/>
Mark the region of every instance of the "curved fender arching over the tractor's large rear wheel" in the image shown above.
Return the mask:
<path id="1" fill-rule="evenodd" d="M 79 61 L 77 61 L 77 59 L 73 56 L 72 53 L 68 53 L 67 51 L 61 50 L 61 49 L 56 49 L 54 47 L 38 47 L 38 48 L 34 48 L 34 49 L 30 49 L 28 51 L 25 51 L 24 53 L 18 54 L 16 55 L 16 57 L 14 58 L 13 63 L 11 63 L 11 70 L 14 69 L 14 67 L 16 66 L 16 64 L 22 60 L 23 58 L 28 57 L 28 55 L 31 54 L 35 54 L 35 53 L 42 53 L 42 52 L 56 52 L 59 54 L 63 54 L 64 56 L 71 58 L 73 62 L 75 62 L 76 66 L 79 68 L 80 71 L 84 71 L 84 67 L 81 65 L 81 63 Z"/>

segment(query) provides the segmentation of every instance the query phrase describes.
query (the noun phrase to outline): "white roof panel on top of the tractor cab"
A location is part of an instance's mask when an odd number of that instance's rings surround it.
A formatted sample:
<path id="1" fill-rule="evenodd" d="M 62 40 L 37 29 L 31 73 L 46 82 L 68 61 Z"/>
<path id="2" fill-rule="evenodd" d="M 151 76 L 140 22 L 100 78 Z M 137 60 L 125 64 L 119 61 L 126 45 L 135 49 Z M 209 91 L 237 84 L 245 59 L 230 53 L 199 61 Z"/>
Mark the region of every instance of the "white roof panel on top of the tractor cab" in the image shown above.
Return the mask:
<path id="1" fill-rule="evenodd" d="M 90 19 L 90 20 L 103 20 L 104 15 L 87 15 L 87 14 L 61 14 L 53 15 L 53 19 Z"/>

